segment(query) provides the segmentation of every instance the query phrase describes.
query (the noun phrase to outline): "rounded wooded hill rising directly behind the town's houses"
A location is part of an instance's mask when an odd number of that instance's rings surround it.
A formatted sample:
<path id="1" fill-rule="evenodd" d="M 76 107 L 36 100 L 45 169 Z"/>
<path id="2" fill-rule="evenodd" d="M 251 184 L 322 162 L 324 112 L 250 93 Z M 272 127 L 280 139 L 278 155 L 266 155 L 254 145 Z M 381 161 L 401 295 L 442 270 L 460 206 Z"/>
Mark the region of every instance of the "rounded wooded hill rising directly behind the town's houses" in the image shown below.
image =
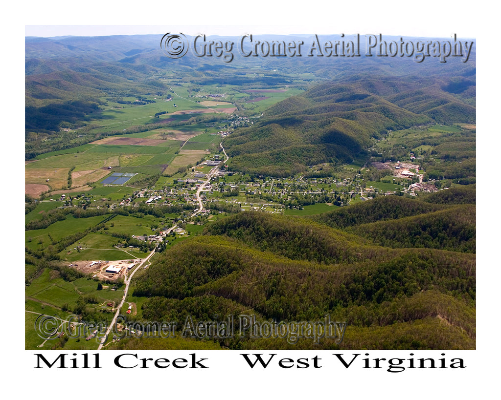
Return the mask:
<path id="1" fill-rule="evenodd" d="M 350 162 L 388 129 L 430 121 L 366 90 L 331 82 L 271 106 L 224 146 L 232 170 L 289 176 L 307 165 Z"/>

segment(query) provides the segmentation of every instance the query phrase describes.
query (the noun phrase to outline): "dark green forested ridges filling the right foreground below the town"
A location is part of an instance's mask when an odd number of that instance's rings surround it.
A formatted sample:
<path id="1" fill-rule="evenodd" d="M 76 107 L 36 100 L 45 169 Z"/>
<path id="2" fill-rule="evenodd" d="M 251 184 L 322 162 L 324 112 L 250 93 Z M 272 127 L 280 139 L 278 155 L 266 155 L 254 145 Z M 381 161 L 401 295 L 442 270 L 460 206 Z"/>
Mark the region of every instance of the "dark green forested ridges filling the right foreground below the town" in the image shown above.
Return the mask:
<path id="1" fill-rule="evenodd" d="M 343 342 L 325 339 L 319 344 L 325 348 L 474 348 L 472 210 L 380 197 L 315 217 L 337 220 L 337 228 L 311 218 L 242 212 L 162 254 L 138 278 L 134 295 L 148 297 L 144 317 L 181 324 L 187 315 L 237 320 L 242 313 L 262 321 L 327 314 L 346 320 Z M 427 236 L 410 230 L 428 220 Z M 230 348 L 312 345 L 248 337 L 219 342 Z"/>

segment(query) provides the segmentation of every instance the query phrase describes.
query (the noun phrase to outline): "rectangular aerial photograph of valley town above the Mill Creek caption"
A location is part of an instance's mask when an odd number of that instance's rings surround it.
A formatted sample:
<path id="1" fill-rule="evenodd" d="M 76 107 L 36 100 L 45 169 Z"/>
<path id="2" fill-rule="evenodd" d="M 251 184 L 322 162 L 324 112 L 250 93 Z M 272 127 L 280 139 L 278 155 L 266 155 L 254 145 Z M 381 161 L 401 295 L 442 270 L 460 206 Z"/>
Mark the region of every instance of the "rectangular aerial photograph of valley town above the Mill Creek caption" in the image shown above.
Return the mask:
<path id="1" fill-rule="evenodd" d="M 25 89 L 26 349 L 476 348 L 474 37 L 27 30 Z"/>

